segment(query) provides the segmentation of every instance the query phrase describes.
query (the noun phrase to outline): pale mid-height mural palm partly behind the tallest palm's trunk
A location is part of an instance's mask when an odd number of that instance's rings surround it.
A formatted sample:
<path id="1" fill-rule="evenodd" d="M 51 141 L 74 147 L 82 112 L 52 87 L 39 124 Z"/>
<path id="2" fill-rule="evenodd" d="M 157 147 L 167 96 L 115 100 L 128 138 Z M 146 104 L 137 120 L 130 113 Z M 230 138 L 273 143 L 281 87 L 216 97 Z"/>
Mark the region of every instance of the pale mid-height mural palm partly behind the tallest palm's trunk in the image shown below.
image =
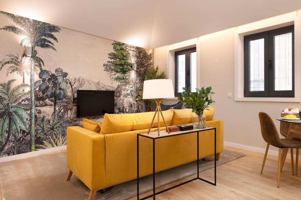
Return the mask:
<path id="1" fill-rule="evenodd" d="M 44 62 L 40 57 L 36 57 L 37 62 L 34 63 L 34 71 L 37 73 L 39 69 L 42 70 L 42 65 L 44 66 Z M 18 75 L 23 77 L 23 83 L 25 83 L 24 75 L 30 73 L 30 57 L 26 56 L 25 52 L 21 56 L 19 54 L 7 54 L 0 61 L 0 71 L 3 67 L 9 65 L 6 70 L 6 76 L 12 73 L 17 73 Z"/>

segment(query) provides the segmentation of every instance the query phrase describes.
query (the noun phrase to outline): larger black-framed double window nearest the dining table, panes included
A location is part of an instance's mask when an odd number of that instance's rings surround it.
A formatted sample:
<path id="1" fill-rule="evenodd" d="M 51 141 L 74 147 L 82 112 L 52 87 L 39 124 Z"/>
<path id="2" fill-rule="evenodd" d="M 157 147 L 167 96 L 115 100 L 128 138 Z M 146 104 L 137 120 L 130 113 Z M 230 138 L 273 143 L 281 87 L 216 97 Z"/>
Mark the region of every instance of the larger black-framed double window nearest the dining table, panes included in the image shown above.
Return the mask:
<path id="1" fill-rule="evenodd" d="M 244 97 L 294 96 L 294 26 L 244 36 Z"/>

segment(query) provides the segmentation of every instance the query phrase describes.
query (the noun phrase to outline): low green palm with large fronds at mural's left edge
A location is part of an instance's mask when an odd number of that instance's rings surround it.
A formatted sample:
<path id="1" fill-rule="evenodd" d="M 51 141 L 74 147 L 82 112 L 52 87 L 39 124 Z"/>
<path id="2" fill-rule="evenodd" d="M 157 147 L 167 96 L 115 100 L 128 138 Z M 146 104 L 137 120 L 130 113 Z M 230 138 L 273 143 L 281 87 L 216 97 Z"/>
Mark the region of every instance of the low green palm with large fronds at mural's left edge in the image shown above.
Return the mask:
<path id="1" fill-rule="evenodd" d="M 5 149 L 11 135 L 14 133 L 14 154 L 17 154 L 17 136 L 20 134 L 20 130 L 28 131 L 28 122 L 26 118 L 30 115 L 26 110 L 30 109 L 29 105 L 20 104 L 20 102 L 29 97 L 30 92 L 24 92 L 23 90 L 28 88 L 27 84 L 20 84 L 13 87 L 13 83 L 16 79 L 11 79 L 7 83 L 0 83 L 0 140 L 3 143 L 0 148 L 0 153 Z M 5 139 L 5 132 L 7 136 Z"/>

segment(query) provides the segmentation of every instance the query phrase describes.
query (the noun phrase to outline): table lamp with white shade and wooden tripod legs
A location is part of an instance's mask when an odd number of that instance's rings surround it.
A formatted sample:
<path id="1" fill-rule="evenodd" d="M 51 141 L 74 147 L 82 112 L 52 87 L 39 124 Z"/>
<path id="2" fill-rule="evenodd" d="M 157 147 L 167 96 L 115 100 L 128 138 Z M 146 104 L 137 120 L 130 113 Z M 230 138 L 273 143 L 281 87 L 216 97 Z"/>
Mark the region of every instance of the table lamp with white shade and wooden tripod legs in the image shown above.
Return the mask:
<path id="1" fill-rule="evenodd" d="M 160 107 L 162 99 L 166 99 L 166 98 L 175 98 L 175 93 L 173 90 L 171 79 L 152 79 L 152 80 L 144 81 L 142 99 L 154 99 L 157 104 L 157 108 L 155 110 L 155 114 L 151 121 L 150 128 L 147 131 L 147 134 L 149 134 L 151 130 L 151 126 L 153 125 L 157 113 L 158 113 L 158 135 L 160 135 L 160 113 L 162 115 L 164 124 L 166 126 L 166 131 L 169 133 L 166 121 L 164 119 Z"/>

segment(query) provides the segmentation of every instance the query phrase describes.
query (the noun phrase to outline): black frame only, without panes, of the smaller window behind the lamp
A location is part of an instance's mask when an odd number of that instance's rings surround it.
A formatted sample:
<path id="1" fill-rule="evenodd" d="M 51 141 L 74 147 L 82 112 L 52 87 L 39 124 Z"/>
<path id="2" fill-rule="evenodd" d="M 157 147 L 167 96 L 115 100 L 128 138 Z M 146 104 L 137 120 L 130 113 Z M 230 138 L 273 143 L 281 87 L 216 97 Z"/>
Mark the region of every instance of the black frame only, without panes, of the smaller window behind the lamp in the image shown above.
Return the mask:
<path id="1" fill-rule="evenodd" d="M 175 97 L 180 97 L 181 92 L 178 92 L 178 56 L 185 54 L 185 87 L 190 87 L 191 92 L 191 85 L 190 85 L 190 76 L 191 76 L 191 69 L 190 69 L 190 54 L 193 52 L 197 52 L 197 48 L 188 48 L 181 51 L 175 51 Z"/>

